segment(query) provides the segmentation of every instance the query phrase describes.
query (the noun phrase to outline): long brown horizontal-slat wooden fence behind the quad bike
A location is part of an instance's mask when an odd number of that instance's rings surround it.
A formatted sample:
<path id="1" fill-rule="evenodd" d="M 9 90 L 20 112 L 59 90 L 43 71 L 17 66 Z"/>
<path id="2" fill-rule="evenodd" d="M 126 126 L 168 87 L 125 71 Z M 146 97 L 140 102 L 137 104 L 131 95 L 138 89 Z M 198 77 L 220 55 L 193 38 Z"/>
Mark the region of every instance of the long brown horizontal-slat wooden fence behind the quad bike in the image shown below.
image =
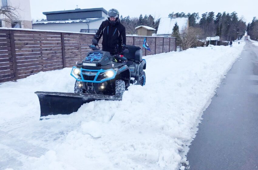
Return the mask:
<path id="1" fill-rule="evenodd" d="M 0 29 L 0 83 L 16 81 L 40 71 L 74 66 L 89 52 L 93 36 L 85 33 Z M 127 36 L 126 43 L 142 46 L 144 38 L 151 51 L 143 49 L 143 56 L 176 50 L 173 37 Z"/>

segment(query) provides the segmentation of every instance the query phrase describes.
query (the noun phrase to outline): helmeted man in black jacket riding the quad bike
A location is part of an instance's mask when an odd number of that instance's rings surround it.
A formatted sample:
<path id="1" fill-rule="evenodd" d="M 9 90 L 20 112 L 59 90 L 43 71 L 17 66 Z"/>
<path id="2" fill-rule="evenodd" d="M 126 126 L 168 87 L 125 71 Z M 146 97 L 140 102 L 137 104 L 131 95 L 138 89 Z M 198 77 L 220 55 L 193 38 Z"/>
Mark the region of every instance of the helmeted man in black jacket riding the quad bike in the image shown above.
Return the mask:
<path id="1" fill-rule="evenodd" d="M 102 50 L 110 52 L 111 55 L 120 54 L 126 46 L 125 27 L 119 19 L 119 12 L 110 9 L 107 13 L 108 20 L 103 21 L 93 39 L 93 45 L 97 46 L 103 36 Z"/>

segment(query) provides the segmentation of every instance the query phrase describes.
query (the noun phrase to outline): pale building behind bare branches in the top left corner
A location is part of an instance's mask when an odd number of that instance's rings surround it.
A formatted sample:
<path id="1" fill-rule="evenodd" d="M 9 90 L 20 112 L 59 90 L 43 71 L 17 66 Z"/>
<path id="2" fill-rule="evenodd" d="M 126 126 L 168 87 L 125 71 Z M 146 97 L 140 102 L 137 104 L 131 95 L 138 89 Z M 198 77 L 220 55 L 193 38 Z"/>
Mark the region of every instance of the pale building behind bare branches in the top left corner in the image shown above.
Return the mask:
<path id="1" fill-rule="evenodd" d="M 6 15 L 0 15 L 0 27 L 32 29 L 29 0 L 2 0 L 0 4 L 2 9 L 8 6 L 17 8 L 14 11 L 17 18 L 10 19 Z"/>

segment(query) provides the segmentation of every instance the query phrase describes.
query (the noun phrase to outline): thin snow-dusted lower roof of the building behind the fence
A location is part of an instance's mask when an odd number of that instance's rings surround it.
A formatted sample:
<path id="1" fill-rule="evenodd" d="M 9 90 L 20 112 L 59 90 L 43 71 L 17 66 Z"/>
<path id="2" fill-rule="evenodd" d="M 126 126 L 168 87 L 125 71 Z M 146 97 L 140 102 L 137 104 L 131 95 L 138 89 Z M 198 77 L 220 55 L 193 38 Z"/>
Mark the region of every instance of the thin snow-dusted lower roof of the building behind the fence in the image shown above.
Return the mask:
<path id="1" fill-rule="evenodd" d="M 93 22 L 97 21 L 99 19 L 104 19 L 104 17 L 101 18 L 85 18 L 85 19 L 68 19 L 68 20 L 50 20 L 50 21 L 39 21 L 39 22 L 33 22 L 32 24 L 55 24 L 55 23 L 76 23 L 76 22 Z"/>

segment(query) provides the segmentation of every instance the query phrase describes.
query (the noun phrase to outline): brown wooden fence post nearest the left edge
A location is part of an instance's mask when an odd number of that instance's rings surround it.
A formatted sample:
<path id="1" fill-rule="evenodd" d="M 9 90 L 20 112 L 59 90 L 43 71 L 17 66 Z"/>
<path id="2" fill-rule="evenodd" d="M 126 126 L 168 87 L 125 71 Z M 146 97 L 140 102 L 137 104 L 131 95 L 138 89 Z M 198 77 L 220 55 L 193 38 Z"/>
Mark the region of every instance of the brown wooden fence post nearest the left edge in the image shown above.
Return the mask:
<path id="1" fill-rule="evenodd" d="M 14 32 L 14 30 L 9 30 L 11 53 L 12 53 L 13 76 L 14 76 L 14 81 L 17 81 L 17 79 L 18 79 L 18 70 L 17 70 L 15 42 L 14 42 L 14 33 L 13 32 Z"/>

